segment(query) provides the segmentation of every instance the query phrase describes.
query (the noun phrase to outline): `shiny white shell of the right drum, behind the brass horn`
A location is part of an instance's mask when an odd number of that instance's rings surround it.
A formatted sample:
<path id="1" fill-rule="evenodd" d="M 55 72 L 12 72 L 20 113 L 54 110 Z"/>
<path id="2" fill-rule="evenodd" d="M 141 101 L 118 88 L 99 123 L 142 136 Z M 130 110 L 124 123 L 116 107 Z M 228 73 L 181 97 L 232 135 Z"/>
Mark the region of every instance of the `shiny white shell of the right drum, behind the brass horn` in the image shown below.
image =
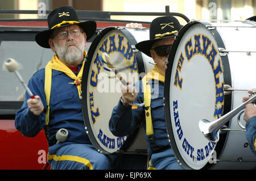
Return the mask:
<path id="1" fill-rule="evenodd" d="M 233 89 L 251 90 L 255 88 L 256 25 L 237 22 L 232 23 L 230 27 L 220 24 L 216 26 L 220 26 L 217 27 L 217 31 L 224 41 L 225 49 L 230 50 L 226 56 L 229 60 Z M 230 111 L 240 106 L 243 96 L 248 95 L 247 91 L 233 91 Z M 245 125 L 245 121 L 242 120 L 242 124 Z M 249 146 L 246 146 L 248 141 L 245 132 L 241 131 L 237 123 L 237 115 L 229 121 L 228 128 L 233 131 L 227 132 L 225 144 L 218 158 L 221 161 L 213 169 L 255 169 L 256 157 L 250 151 Z"/>

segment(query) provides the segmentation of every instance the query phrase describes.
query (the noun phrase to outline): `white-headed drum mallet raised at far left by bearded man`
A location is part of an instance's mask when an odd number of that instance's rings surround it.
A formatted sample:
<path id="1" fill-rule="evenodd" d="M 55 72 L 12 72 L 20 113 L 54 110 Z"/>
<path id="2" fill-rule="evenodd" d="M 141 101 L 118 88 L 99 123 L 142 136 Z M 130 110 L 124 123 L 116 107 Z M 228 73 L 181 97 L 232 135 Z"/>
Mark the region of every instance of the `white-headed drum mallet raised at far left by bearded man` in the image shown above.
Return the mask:
<path id="1" fill-rule="evenodd" d="M 30 95 L 31 99 L 35 99 L 35 96 L 32 94 L 31 90 L 28 88 L 26 83 L 23 81 L 22 76 L 19 74 L 19 64 L 16 62 L 13 58 L 8 58 L 3 62 L 3 67 L 6 68 L 10 72 L 14 72 L 16 76 L 18 77 L 19 81 L 22 83 L 23 87 L 27 91 L 28 95 Z"/>

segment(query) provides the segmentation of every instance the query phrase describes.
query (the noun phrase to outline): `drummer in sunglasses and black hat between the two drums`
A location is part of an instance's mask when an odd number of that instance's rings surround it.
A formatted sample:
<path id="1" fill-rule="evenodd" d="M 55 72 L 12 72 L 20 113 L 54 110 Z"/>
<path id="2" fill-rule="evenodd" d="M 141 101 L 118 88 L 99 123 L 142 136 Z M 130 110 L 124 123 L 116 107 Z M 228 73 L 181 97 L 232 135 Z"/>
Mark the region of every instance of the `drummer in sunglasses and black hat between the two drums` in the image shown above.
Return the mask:
<path id="1" fill-rule="evenodd" d="M 148 169 L 183 169 L 177 163 L 167 137 L 164 117 L 164 75 L 174 38 L 181 26 L 173 16 L 154 19 L 150 24 L 150 40 L 141 41 L 136 48 L 155 62 L 154 69 L 141 81 L 122 86 L 122 96 L 109 121 L 115 136 L 127 136 L 140 124 L 146 132 Z M 144 106 L 138 106 L 143 105 Z"/>

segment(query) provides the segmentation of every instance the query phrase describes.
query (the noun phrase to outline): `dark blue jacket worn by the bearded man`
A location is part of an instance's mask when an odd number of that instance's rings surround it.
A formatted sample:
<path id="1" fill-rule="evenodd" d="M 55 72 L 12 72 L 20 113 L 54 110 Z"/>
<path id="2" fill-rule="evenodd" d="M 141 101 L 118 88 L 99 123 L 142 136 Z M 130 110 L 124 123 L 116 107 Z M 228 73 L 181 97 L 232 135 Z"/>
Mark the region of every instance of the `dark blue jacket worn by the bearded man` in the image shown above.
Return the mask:
<path id="1" fill-rule="evenodd" d="M 79 70 L 81 65 L 79 65 Z M 40 96 L 44 110 L 46 110 L 44 74 L 45 69 L 37 71 L 28 81 L 28 87 L 34 95 Z M 89 137 L 85 133 L 81 100 L 79 99 L 77 87 L 69 84 L 69 82 L 73 82 L 73 79 L 69 78 L 65 73 L 52 70 L 49 124 L 46 127 L 48 145 L 50 146 L 49 154 L 54 154 L 60 146 L 66 144 L 90 144 Z M 24 136 L 34 137 L 44 128 L 46 115 L 44 111 L 41 115 L 35 116 L 27 106 L 27 99 L 29 98 L 30 96 L 26 93 L 23 106 L 16 113 L 15 127 Z M 68 130 L 68 138 L 65 142 L 55 145 L 55 135 L 60 128 Z"/>

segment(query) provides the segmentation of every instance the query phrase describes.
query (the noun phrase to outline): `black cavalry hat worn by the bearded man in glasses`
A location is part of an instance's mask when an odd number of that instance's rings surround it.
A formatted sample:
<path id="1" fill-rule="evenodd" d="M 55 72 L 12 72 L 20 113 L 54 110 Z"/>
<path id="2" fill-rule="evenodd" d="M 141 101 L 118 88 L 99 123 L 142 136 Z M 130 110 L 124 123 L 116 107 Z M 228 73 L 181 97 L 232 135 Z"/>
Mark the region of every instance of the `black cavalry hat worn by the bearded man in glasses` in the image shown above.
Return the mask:
<path id="1" fill-rule="evenodd" d="M 48 15 L 47 22 L 49 30 L 39 32 L 35 36 L 36 43 L 44 48 L 50 48 L 48 44 L 49 36 L 53 30 L 60 27 L 76 24 L 86 33 L 86 40 L 89 40 L 96 31 L 96 22 L 79 22 L 76 10 L 71 6 L 57 7 L 55 10 L 52 10 Z"/>

